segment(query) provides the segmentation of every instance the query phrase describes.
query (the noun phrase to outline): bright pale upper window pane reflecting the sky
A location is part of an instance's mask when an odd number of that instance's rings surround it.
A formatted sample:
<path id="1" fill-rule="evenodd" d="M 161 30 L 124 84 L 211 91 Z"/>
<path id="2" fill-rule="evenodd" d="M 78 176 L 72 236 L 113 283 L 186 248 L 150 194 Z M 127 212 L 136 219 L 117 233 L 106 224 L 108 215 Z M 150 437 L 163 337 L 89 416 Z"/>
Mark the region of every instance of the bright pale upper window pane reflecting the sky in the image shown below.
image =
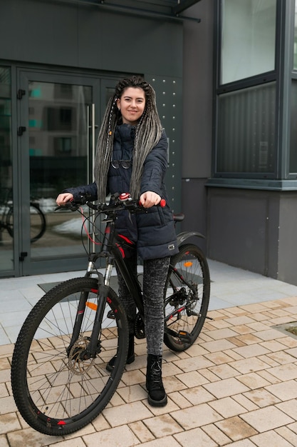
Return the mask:
<path id="1" fill-rule="evenodd" d="M 276 0 L 222 0 L 220 84 L 275 69 Z"/>

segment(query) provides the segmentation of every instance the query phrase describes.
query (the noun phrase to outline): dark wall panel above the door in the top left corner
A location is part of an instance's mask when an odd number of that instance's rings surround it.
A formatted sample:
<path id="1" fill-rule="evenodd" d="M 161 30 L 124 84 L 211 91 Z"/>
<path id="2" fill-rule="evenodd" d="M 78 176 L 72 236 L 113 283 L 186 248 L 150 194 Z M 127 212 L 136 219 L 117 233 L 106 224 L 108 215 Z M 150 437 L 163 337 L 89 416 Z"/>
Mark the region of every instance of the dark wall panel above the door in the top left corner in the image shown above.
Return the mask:
<path id="1" fill-rule="evenodd" d="M 77 65 L 77 6 L 34 0 L 3 3 L 0 59 Z"/>

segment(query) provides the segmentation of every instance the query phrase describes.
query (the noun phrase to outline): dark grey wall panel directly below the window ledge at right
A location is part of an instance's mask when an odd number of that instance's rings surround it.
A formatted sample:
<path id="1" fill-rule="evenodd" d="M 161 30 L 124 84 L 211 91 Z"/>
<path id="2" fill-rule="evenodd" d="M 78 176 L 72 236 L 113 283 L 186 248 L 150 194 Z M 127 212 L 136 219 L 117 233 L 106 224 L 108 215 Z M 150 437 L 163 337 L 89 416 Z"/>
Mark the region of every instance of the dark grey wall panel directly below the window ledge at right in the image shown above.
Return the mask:
<path id="1" fill-rule="evenodd" d="M 209 257 L 278 277 L 278 193 L 208 189 Z"/>

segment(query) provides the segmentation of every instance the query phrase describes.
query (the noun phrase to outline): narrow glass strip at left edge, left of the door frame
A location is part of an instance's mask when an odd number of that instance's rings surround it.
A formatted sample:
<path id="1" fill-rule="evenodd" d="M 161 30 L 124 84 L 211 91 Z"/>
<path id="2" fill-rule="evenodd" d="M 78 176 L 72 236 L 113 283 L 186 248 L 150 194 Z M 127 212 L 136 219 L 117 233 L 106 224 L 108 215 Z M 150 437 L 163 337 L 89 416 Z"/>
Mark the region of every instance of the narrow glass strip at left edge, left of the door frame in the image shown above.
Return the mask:
<path id="1" fill-rule="evenodd" d="M 12 202 L 11 164 L 11 71 L 0 66 L 0 271 L 14 268 L 11 220 Z"/>

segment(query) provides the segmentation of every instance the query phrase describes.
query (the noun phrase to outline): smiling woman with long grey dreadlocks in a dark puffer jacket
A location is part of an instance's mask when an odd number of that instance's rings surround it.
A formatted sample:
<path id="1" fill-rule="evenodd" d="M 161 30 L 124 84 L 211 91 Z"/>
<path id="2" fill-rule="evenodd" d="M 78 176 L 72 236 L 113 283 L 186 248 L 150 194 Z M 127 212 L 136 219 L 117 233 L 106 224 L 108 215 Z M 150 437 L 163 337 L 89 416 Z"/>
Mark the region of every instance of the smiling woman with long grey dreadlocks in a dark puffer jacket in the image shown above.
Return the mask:
<path id="1" fill-rule="evenodd" d="M 167 395 L 162 383 L 162 345 L 164 336 L 163 293 L 170 256 L 177 253 L 172 211 L 164 178 L 167 169 L 167 137 L 157 114 L 155 91 L 138 77 L 123 79 L 110 98 L 100 128 L 95 157 L 95 182 L 66 189 L 57 198 L 59 206 L 90 194 L 105 202 L 108 194 L 130 192 L 140 198 L 147 213 L 121 212 L 117 231 L 137 246 L 137 253 L 125 253 L 125 262 L 137 275 L 137 254 L 143 260 L 143 300 L 147 337 L 147 400 L 152 406 L 165 406 Z M 166 206 L 155 206 L 161 199 Z M 135 360 L 135 303 L 118 272 L 119 296 L 129 323 L 129 349 L 126 363 Z M 112 371 L 115 357 L 106 368 Z"/>

